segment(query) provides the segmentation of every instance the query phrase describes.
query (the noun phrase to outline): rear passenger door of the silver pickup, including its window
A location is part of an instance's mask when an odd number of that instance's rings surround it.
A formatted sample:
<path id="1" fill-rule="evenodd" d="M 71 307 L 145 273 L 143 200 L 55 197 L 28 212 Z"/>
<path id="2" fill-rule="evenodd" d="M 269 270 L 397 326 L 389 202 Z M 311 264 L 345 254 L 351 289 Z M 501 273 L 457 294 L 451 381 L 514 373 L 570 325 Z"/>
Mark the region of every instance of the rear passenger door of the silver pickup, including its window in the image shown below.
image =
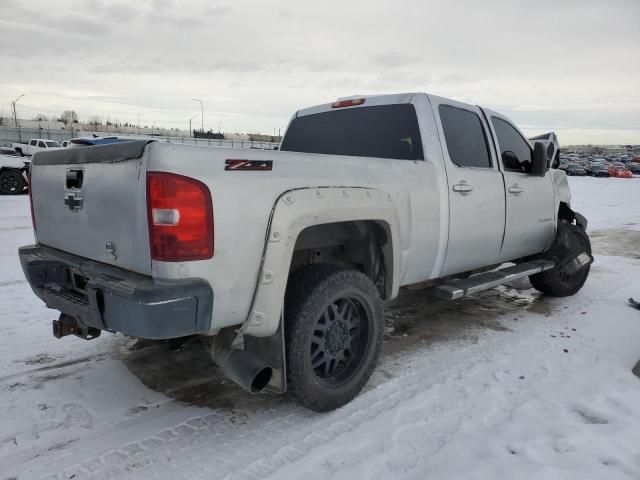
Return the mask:
<path id="1" fill-rule="evenodd" d="M 498 261 L 505 192 L 479 108 L 430 95 L 442 144 L 449 195 L 449 239 L 441 276 Z"/>

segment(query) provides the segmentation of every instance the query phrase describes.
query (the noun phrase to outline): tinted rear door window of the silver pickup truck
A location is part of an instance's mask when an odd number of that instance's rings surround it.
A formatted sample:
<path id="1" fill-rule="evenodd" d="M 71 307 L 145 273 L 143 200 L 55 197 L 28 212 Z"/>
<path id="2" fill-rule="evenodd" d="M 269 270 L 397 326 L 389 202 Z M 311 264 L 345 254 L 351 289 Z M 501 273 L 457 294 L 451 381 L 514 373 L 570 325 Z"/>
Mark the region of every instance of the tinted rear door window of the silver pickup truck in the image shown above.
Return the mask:
<path id="1" fill-rule="evenodd" d="M 440 105 L 438 111 L 451 161 L 459 167 L 491 167 L 487 136 L 480 117 L 450 105 Z"/>

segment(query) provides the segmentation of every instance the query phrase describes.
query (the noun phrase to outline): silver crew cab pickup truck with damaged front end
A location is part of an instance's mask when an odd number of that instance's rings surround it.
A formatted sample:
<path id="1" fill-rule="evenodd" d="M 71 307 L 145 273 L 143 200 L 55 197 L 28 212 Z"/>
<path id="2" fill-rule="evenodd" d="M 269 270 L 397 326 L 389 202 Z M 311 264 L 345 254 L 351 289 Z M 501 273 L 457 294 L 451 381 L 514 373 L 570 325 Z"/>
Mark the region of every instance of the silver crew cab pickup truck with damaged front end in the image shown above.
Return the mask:
<path id="1" fill-rule="evenodd" d="M 280 151 L 135 141 L 37 153 L 33 291 L 56 337 L 212 338 L 251 392 L 326 411 L 365 385 L 383 302 L 521 277 L 576 293 L 593 258 L 554 135 L 424 93 L 295 113 Z"/>

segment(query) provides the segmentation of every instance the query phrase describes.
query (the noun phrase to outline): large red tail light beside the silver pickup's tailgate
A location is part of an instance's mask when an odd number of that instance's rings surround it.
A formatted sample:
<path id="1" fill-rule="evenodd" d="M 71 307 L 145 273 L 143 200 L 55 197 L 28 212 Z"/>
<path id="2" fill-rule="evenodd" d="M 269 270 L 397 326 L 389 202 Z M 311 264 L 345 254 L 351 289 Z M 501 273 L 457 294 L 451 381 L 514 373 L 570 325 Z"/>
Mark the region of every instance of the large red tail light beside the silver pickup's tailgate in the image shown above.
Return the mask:
<path id="1" fill-rule="evenodd" d="M 213 206 L 204 183 L 174 173 L 148 172 L 147 219 L 153 260 L 213 257 Z"/>

